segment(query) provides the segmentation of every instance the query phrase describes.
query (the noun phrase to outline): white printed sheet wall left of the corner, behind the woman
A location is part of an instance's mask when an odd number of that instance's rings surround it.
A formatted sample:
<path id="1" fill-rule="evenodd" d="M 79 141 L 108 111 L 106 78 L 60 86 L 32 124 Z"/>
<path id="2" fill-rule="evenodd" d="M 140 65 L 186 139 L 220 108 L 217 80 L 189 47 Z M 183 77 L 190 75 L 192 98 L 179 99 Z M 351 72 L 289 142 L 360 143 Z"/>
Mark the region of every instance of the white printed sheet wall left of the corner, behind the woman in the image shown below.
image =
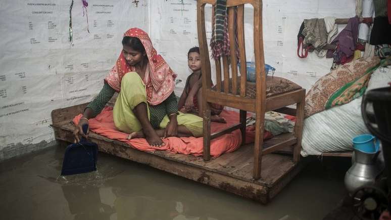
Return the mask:
<path id="1" fill-rule="evenodd" d="M 149 30 L 149 1 L 87 1 L 88 32 L 75 0 L 71 45 L 71 2 L 0 3 L 0 160 L 53 141 L 51 111 L 89 102 L 118 58 L 123 32 Z"/>

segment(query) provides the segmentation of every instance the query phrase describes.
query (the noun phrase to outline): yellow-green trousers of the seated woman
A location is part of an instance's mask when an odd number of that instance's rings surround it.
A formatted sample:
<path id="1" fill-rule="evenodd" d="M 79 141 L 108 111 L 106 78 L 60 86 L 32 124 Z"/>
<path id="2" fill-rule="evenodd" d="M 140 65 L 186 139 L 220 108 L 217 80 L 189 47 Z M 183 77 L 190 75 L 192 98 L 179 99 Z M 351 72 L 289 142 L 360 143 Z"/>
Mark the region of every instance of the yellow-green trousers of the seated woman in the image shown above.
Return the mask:
<path id="1" fill-rule="evenodd" d="M 134 107 L 140 103 L 147 104 L 148 119 L 150 119 L 150 106 L 146 101 L 145 84 L 136 72 L 127 73 L 121 81 L 121 91 L 113 109 L 114 124 L 117 129 L 132 133 L 141 130 L 141 124 L 133 113 Z M 184 125 L 194 137 L 202 136 L 202 118 L 193 114 L 177 115 L 178 125 Z M 165 128 L 169 118 L 166 115 L 160 122 L 160 128 Z"/>

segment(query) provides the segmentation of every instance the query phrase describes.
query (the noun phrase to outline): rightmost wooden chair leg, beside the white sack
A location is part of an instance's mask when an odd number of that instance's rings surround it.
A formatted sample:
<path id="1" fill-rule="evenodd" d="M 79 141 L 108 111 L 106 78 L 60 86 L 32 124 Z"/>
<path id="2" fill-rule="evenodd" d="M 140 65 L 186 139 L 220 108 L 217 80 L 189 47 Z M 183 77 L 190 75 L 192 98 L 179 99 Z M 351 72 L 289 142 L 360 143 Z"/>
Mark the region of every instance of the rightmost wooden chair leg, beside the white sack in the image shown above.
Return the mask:
<path id="1" fill-rule="evenodd" d="M 303 121 L 304 121 L 304 105 L 305 105 L 305 94 L 303 92 L 301 101 L 296 105 L 296 122 L 295 122 L 295 136 L 297 138 L 297 143 L 294 145 L 294 162 L 297 163 L 300 161 L 300 151 L 302 149 L 302 136 L 303 136 Z"/>

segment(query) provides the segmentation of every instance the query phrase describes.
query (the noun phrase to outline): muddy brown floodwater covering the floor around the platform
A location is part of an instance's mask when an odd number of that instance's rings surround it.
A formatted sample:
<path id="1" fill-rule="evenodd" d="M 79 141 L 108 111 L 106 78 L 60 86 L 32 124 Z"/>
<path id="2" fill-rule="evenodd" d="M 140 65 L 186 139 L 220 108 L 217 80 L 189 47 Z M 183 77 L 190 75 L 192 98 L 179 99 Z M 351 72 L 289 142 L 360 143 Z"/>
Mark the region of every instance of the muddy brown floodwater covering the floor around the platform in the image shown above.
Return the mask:
<path id="1" fill-rule="evenodd" d="M 349 160 L 312 161 L 268 205 L 99 153 L 59 176 L 64 147 L 0 163 L 0 219 L 322 219 L 345 195 Z"/>

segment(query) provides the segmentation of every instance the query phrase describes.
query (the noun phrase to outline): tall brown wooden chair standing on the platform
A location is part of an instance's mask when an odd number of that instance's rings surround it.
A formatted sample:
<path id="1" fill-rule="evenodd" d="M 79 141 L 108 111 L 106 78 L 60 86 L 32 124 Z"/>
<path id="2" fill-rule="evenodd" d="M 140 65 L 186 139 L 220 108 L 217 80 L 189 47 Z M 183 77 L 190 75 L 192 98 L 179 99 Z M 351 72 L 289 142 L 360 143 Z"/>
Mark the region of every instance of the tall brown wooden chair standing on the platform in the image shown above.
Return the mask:
<path id="1" fill-rule="evenodd" d="M 240 128 L 242 144 L 246 137 L 246 116 L 247 111 L 256 114 L 256 136 L 254 143 L 254 179 L 261 178 L 262 155 L 272 153 L 282 148 L 293 146 L 293 159 L 298 162 L 300 159 L 305 89 L 301 86 L 280 77 L 266 76 L 264 66 L 264 51 L 262 37 L 262 0 L 227 0 L 228 11 L 228 33 L 230 39 L 230 58 L 222 57 L 215 60 L 216 64 L 216 85 L 212 85 L 210 54 L 208 52 L 208 40 L 205 28 L 205 5 L 212 5 L 212 25 L 215 0 L 197 1 L 197 27 L 202 57 L 202 92 L 203 92 L 203 117 L 204 117 L 204 160 L 210 159 L 210 141 L 224 134 Z M 235 30 L 237 27 L 237 41 L 239 51 L 239 62 L 246 64 L 245 30 L 244 30 L 244 4 L 251 4 L 254 7 L 254 54 L 256 68 L 256 82 L 246 80 L 246 65 L 240 65 L 238 76 L 238 60 L 235 56 Z M 235 14 L 235 9 L 237 13 Z M 237 16 L 236 19 L 234 16 Z M 233 24 L 236 21 L 236 24 Z M 221 62 L 222 60 L 222 62 Z M 230 60 L 230 61 L 229 61 Z M 221 63 L 223 68 L 221 68 Z M 231 66 L 231 68 L 229 68 Z M 233 68 L 232 68 L 233 67 Z M 231 71 L 230 71 L 231 69 Z M 224 80 L 221 72 L 223 71 Z M 231 72 L 231 74 L 230 74 Z M 230 76 L 231 75 L 231 76 Z M 229 79 L 229 80 L 228 80 Z M 233 107 L 240 110 L 240 123 L 232 125 L 219 133 L 211 134 L 210 103 Z M 292 104 L 296 105 L 296 124 L 294 135 L 290 138 L 263 149 L 264 120 L 265 112 L 280 109 Z"/>

